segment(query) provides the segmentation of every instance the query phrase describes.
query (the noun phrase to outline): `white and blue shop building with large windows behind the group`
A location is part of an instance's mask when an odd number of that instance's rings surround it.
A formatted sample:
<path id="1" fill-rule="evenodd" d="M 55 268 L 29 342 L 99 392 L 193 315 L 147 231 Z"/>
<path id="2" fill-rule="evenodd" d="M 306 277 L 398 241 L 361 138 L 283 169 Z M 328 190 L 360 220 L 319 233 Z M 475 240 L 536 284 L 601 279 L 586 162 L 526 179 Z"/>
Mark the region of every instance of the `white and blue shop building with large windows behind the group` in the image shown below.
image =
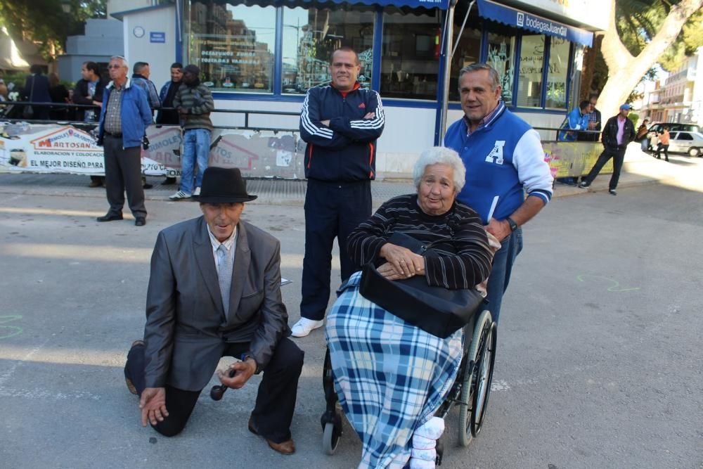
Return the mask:
<path id="1" fill-rule="evenodd" d="M 610 11 L 611 4 L 179 0 L 112 16 L 124 22 L 127 60 L 198 65 L 216 108 L 254 113 L 250 127 L 297 128 L 307 89 L 330 80 L 330 54 L 351 46 L 361 61 L 359 82 L 378 91 L 384 103 L 377 162 L 383 176 L 407 174 L 424 148 L 441 142 L 445 103 L 446 121 L 460 118 L 458 72 L 471 63 L 498 70 L 503 100 L 513 112 L 534 127 L 558 127 L 574 107 L 583 47 L 591 46 L 593 31 L 607 28 L 607 15 L 593 12 Z M 157 84 L 168 79 L 167 67 L 151 70 Z M 257 118 L 256 111 L 290 116 Z M 219 126 L 243 126 L 244 119 L 213 115 Z M 542 134 L 553 139 L 555 133 Z"/>

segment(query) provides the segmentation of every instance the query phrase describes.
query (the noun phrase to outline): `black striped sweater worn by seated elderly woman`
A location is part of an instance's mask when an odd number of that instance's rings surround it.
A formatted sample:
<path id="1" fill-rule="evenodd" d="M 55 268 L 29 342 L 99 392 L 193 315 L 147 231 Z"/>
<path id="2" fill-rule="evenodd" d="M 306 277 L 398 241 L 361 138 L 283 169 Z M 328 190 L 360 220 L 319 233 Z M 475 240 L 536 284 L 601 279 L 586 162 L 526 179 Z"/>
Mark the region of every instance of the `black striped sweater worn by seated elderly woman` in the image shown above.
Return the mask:
<path id="1" fill-rule="evenodd" d="M 392 198 L 349 235 L 349 256 L 359 267 L 382 263 L 379 251 L 395 232 L 434 242 L 423 255 L 428 285 L 472 288 L 491 273 L 493 251 L 486 231 L 477 213 L 462 203 L 455 202 L 445 214 L 432 216 L 420 210 L 416 194 Z"/>

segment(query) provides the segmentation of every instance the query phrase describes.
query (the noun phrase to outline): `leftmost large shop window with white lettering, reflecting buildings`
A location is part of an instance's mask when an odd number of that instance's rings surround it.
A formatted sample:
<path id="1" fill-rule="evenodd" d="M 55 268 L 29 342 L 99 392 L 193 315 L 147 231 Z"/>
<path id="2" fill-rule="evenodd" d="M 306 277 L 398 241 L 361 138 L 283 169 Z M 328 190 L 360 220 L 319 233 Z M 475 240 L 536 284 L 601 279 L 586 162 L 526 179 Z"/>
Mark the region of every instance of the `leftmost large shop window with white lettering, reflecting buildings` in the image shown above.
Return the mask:
<path id="1" fill-rule="evenodd" d="M 273 91 L 276 7 L 198 1 L 189 4 L 188 63 L 214 91 Z"/>

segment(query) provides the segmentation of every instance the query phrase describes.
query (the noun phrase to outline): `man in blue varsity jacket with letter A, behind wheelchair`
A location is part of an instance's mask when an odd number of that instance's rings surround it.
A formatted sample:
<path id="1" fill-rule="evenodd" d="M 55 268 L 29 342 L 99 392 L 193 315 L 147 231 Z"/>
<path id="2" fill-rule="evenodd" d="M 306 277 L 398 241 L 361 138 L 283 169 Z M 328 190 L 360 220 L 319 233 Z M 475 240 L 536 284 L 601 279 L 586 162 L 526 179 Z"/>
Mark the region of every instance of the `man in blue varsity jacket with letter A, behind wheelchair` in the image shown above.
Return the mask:
<path id="1" fill-rule="evenodd" d="M 539 134 L 501 101 L 496 70 L 484 63 L 461 69 L 459 93 L 464 117 L 447 129 L 444 145 L 456 150 L 466 165 L 458 200 L 476 210 L 486 230 L 501 242 L 486 297 L 497 322 L 512 264 L 522 250 L 520 226 L 549 202 L 552 175 Z"/>

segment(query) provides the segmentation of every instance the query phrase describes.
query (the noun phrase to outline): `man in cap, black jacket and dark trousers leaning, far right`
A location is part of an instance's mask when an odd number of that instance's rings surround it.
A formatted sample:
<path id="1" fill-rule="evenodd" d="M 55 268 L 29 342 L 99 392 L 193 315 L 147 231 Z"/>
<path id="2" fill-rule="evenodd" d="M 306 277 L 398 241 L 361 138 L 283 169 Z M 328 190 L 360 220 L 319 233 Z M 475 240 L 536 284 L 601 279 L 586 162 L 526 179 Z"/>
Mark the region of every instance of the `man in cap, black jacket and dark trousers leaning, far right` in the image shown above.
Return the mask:
<path id="1" fill-rule="evenodd" d="M 625 150 L 627 149 L 627 144 L 635 139 L 635 124 L 627 117 L 629 112 L 630 105 L 623 104 L 620 106 L 619 113 L 610 117 L 608 122 L 605 122 L 600 139 L 604 147 L 603 152 L 600 153 L 598 161 L 595 162 L 586 179 L 581 181 L 579 187 L 588 188 L 588 186 L 591 186 L 600 169 L 612 158 L 613 174 L 610 176 L 608 192 L 610 192 L 610 195 L 617 195 L 617 182 L 620 179 L 620 169 L 622 169 L 622 163 L 625 160 Z"/>

